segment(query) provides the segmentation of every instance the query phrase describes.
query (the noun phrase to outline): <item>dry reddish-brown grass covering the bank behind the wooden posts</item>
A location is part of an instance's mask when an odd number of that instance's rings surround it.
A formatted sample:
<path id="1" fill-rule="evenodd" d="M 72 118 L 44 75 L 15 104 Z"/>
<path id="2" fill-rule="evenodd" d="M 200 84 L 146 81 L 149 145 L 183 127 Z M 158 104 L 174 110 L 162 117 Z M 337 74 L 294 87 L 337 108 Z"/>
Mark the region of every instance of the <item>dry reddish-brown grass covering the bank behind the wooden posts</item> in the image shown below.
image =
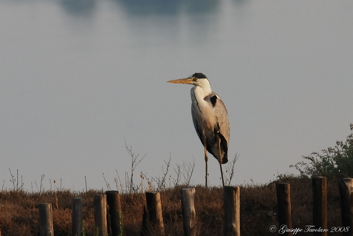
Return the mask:
<path id="1" fill-rule="evenodd" d="M 288 178 L 283 181 L 291 184 L 291 203 L 293 228 L 304 228 L 312 224 L 312 190 L 311 180 L 305 178 Z M 181 219 L 180 189 L 183 186 L 161 192 L 164 230 L 166 235 L 183 235 Z M 71 235 L 72 198 L 83 198 L 83 219 L 86 222 L 86 235 L 94 235 L 93 197 L 102 191 L 72 192 L 55 191 L 28 193 L 23 191 L 0 192 L 0 227 L 2 236 L 39 235 L 38 203 L 53 205 L 53 224 L 55 236 Z M 142 225 L 144 194 L 122 194 L 122 221 L 124 235 L 139 235 Z M 341 226 L 340 198 L 338 184 L 328 184 L 328 222 L 329 229 Z M 274 235 L 269 228 L 277 226 L 275 183 L 256 186 L 247 185 L 240 188 L 240 224 L 241 235 Z M 195 208 L 198 217 L 199 235 L 223 235 L 223 191 L 222 188 L 206 189 L 196 186 Z M 312 235 L 303 233 L 300 235 Z M 338 235 L 338 233 L 330 233 Z"/>

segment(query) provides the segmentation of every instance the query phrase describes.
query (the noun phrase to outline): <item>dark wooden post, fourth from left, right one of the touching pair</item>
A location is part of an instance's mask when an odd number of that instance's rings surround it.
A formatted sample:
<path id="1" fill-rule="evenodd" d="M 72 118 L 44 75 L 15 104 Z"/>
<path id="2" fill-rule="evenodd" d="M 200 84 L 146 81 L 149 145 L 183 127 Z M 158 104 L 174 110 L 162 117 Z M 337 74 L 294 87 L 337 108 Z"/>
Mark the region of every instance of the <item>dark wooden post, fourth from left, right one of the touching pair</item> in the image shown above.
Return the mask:
<path id="1" fill-rule="evenodd" d="M 122 235 L 121 202 L 118 191 L 107 191 L 108 213 L 110 215 L 110 230 L 112 236 Z"/>

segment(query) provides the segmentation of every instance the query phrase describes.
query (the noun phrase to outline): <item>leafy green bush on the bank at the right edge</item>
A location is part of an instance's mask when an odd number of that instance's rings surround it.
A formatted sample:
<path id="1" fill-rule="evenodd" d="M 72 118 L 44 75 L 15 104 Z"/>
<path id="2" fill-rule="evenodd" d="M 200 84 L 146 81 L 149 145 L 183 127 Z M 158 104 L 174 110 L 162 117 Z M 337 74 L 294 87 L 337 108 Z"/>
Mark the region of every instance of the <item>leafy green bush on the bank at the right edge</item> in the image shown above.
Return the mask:
<path id="1" fill-rule="evenodd" d="M 353 124 L 350 124 L 353 131 Z M 313 152 L 310 156 L 303 156 L 307 161 L 298 162 L 290 167 L 299 170 L 301 176 L 326 176 L 328 178 L 353 177 L 353 133 L 345 143 L 337 141 L 334 148 Z M 309 161 L 309 162 L 308 162 Z"/>

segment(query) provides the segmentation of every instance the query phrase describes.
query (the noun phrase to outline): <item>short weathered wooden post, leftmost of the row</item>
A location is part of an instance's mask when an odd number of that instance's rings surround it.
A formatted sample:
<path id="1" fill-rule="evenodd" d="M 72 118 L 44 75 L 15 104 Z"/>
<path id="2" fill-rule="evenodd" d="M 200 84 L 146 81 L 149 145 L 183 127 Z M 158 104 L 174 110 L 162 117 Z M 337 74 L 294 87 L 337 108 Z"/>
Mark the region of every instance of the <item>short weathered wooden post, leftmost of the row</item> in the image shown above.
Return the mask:
<path id="1" fill-rule="evenodd" d="M 38 204 L 40 236 L 54 236 L 51 203 Z"/>

